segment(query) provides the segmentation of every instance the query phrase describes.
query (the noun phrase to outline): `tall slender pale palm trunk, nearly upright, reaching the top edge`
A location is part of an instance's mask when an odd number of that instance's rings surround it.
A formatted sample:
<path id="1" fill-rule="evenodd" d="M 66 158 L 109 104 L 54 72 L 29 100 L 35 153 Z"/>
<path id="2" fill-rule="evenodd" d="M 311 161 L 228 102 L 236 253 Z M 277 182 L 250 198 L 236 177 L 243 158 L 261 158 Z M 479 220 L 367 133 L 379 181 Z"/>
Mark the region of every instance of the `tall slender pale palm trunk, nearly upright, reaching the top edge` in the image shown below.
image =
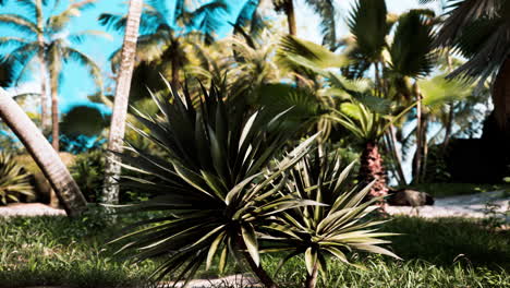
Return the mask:
<path id="1" fill-rule="evenodd" d="M 127 116 L 127 103 L 130 85 L 135 63 L 136 41 L 138 37 L 139 17 L 142 15 L 143 0 L 131 0 L 127 23 L 125 27 L 124 43 L 122 45 L 121 68 L 117 80 L 116 98 L 111 116 L 108 149 L 122 152 L 124 142 L 125 119 Z M 105 167 L 105 188 L 102 201 L 109 204 L 119 202 L 119 185 L 117 179 L 121 172 L 120 158 L 108 153 Z"/>

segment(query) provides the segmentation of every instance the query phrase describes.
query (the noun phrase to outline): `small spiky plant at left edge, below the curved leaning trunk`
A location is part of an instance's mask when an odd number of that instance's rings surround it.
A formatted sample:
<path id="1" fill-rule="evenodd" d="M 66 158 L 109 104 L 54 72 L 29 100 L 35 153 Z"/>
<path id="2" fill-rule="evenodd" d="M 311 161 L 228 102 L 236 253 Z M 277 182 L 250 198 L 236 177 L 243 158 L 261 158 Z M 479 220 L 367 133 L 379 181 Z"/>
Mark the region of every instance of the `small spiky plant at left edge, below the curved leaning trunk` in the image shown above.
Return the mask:
<path id="1" fill-rule="evenodd" d="M 29 175 L 17 165 L 11 154 L 0 152 L 0 201 L 19 202 L 16 194 L 33 195 Z"/>

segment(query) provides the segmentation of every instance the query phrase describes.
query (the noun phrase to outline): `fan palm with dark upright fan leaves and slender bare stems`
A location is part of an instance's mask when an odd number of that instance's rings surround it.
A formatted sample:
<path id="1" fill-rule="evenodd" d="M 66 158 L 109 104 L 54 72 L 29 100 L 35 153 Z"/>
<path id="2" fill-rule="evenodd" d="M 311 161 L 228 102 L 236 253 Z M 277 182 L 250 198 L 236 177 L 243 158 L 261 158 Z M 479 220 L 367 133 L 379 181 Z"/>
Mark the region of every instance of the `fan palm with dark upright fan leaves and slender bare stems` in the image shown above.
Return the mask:
<path id="1" fill-rule="evenodd" d="M 377 95 L 408 105 L 417 101 L 417 155 L 413 170 L 414 179 L 418 179 L 426 129 L 423 128 L 421 95 L 416 81 L 429 74 L 435 64 L 434 12 L 411 10 L 396 16 L 388 14 L 385 0 L 359 0 L 348 22 L 353 39 L 345 41 L 350 44 L 347 51 L 353 63 L 343 69 L 345 75 L 361 77 L 373 67 Z M 393 25 L 397 25 L 397 28 L 390 41 L 389 35 Z M 398 175 L 403 178 L 393 127 L 389 130 L 388 140 L 388 146 L 398 166 Z"/>

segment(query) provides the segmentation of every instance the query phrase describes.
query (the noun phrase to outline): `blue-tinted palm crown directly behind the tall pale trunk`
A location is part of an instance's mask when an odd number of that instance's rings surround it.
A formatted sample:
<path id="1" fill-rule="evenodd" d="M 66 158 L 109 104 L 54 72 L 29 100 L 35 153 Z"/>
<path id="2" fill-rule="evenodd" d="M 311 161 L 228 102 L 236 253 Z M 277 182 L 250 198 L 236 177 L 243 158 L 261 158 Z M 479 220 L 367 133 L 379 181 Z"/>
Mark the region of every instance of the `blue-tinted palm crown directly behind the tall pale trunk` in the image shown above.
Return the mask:
<path id="1" fill-rule="evenodd" d="M 212 43 L 214 33 L 221 24 L 219 13 L 227 11 L 228 7 L 221 0 L 215 0 L 194 10 L 185 0 L 179 0 L 173 10 L 167 5 L 167 1 L 149 0 L 141 17 L 141 36 L 138 37 L 136 62 L 156 64 L 156 69 L 167 75 L 170 63 L 171 84 L 179 86 L 180 71 L 189 62 L 185 52 L 186 37 L 196 35 L 194 29 L 201 32 L 203 40 Z M 169 11 L 173 13 L 170 14 Z M 104 13 L 99 15 L 101 25 L 117 31 L 125 28 L 126 15 Z M 196 40 L 196 39 L 194 39 Z M 120 50 L 111 56 L 113 70 L 120 60 Z"/>

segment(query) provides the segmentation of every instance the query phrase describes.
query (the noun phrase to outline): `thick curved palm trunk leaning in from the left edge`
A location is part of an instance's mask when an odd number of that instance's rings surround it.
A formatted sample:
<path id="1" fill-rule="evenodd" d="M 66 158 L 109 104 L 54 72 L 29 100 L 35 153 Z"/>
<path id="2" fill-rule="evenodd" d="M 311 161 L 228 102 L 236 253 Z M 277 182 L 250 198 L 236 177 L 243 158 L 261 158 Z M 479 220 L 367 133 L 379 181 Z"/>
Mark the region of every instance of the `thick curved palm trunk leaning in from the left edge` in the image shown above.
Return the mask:
<path id="1" fill-rule="evenodd" d="M 20 108 L 20 106 L 0 88 L 0 117 L 17 135 L 28 153 L 39 166 L 69 216 L 84 212 L 85 197 L 57 152 L 42 133 Z"/>

